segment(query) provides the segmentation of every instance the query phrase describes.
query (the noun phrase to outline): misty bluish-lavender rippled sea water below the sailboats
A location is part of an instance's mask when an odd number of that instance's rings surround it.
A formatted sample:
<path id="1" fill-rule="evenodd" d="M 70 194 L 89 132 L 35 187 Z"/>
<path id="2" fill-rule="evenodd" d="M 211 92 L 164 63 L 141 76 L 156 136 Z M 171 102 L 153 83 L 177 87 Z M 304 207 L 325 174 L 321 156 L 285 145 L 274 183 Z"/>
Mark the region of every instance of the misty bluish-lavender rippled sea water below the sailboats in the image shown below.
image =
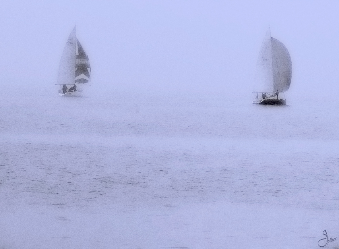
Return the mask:
<path id="1" fill-rule="evenodd" d="M 324 229 L 339 237 L 327 220 L 339 217 L 339 101 L 245 100 L 2 94 L 0 246 L 316 248 Z"/>

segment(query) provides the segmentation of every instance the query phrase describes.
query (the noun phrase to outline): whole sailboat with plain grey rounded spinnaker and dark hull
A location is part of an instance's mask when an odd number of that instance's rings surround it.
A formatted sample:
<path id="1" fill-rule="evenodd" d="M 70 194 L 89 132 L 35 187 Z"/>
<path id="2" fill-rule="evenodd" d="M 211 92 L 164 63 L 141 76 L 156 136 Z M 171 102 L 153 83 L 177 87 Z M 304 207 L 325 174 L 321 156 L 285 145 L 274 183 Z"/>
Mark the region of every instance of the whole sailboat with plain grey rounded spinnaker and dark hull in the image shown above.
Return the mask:
<path id="1" fill-rule="evenodd" d="M 253 104 L 286 104 L 284 92 L 291 85 L 292 61 L 288 50 L 271 37 L 268 28 L 262 42 L 253 91 Z"/>

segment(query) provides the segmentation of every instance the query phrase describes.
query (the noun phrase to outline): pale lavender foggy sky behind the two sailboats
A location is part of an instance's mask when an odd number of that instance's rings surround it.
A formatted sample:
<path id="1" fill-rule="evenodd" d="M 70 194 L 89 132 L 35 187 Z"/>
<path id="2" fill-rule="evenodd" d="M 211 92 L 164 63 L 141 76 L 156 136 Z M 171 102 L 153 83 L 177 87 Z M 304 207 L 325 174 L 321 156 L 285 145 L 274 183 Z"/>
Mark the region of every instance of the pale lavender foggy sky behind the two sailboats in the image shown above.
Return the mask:
<path id="1" fill-rule="evenodd" d="M 338 1 L 2 1 L 0 83 L 53 85 L 69 33 L 92 84 L 133 91 L 251 92 L 271 27 L 291 54 L 292 95 L 338 84 Z"/>

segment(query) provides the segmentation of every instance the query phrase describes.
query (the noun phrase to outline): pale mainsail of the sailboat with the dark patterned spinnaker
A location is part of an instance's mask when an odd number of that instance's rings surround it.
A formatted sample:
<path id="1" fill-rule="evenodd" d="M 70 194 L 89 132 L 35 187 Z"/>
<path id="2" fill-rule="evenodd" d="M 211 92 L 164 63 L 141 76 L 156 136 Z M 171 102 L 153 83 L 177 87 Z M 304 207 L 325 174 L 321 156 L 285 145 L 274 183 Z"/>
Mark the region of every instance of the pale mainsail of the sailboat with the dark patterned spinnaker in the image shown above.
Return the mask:
<path id="1" fill-rule="evenodd" d="M 69 35 L 64 50 L 62 52 L 59 71 L 58 84 L 75 83 L 75 52 L 76 52 L 76 26 Z"/>

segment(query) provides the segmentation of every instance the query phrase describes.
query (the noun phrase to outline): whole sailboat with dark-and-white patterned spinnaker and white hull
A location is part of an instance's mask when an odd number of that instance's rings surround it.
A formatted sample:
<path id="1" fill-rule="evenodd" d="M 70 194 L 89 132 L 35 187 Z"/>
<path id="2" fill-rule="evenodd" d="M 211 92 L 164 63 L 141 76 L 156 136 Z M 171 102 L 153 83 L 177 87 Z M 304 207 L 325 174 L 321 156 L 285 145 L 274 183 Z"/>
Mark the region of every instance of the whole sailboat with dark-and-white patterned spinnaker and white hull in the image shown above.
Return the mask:
<path id="1" fill-rule="evenodd" d="M 91 79 L 88 56 L 76 36 L 76 26 L 68 36 L 62 52 L 58 83 L 60 96 L 81 96 Z"/>

